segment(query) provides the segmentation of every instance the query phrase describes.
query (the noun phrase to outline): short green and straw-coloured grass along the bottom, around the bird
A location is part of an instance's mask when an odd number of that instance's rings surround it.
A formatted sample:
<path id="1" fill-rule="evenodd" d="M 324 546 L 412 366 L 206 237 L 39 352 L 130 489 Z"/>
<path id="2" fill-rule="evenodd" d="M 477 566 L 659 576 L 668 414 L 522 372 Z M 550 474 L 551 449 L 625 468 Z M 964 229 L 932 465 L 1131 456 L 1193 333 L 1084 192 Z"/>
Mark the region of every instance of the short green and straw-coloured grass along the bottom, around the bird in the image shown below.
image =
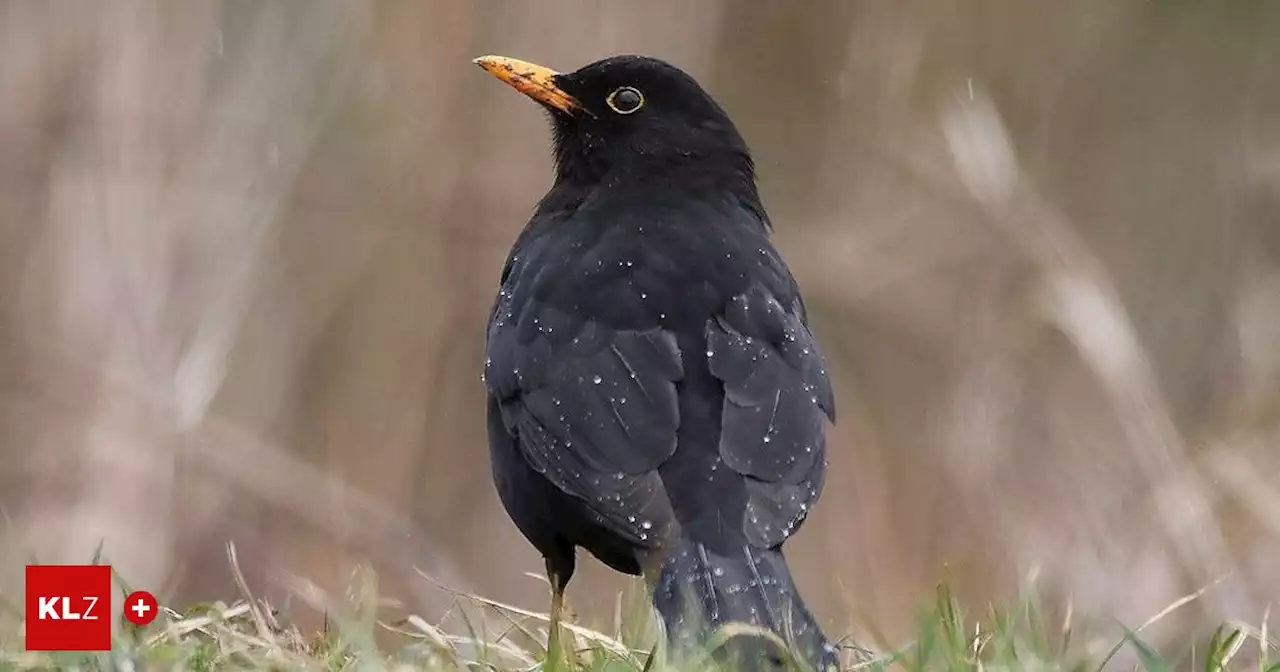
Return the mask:
<path id="1" fill-rule="evenodd" d="M 145 628 L 122 621 L 109 653 L 26 652 L 20 632 L 0 632 L 0 671 L 77 669 L 150 671 L 454 671 L 494 672 L 554 668 L 563 672 L 663 672 L 654 645 L 655 627 L 641 591 L 618 599 L 612 628 L 570 625 L 567 654 L 547 664 L 547 616 L 476 595 L 453 591 L 453 605 L 431 623 L 417 616 L 384 618 L 398 607 L 378 593 L 371 571 L 357 572 L 342 596 L 297 581 L 301 600 L 326 614 L 326 627 L 302 632 L 248 590 L 234 549 L 232 566 L 241 598 L 234 603 L 197 604 L 184 611 L 161 608 Z M 122 588 L 129 586 L 119 577 Z M 425 577 L 424 580 L 431 581 Z M 434 582 L 434 581 L 433 581 Z M 444 586 L 439 586 L 448 590 Z M 1142 626 L 1098 627 L 1068 616 L 1056 623 L 1034 598 L 986 613 L 965 612 L 946 586 L 922 609 L 913 641 L 882 649 L 841 643 L 844 669 L 868 672 L 925 671 L 1257 671 L 1280 672 L 1280 641 L 1257 627 L 1228 623 L 1174 652 L 1157 652 L 1142 632 L 1194 602 L 1188 595 Z M 18 612 L 12 602 L 0 609 Z M 493 623 L 500 627 L 493 628 Z M 1097 631 L 1119 631 L 1106 636 Z M 461 635 L 458 632 L 462 632 Z M 1121 662 L 1128 660 L 1128 662 Z"/>

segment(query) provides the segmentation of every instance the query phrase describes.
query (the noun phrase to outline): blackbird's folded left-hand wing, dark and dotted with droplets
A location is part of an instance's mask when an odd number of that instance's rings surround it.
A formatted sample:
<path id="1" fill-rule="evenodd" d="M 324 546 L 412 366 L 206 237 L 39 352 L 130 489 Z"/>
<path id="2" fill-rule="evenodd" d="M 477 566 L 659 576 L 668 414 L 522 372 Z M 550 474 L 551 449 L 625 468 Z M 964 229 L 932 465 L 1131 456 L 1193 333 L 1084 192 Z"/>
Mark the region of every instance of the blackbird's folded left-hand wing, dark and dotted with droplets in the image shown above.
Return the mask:
<path id="1" fill-rule="evenodd" d="M 639 545 L 673 520 L 657 468 L 676 451 L 676 338 L 616 330 L 530 301 L 498 306 L 485 381 L 529 463 Z"/>

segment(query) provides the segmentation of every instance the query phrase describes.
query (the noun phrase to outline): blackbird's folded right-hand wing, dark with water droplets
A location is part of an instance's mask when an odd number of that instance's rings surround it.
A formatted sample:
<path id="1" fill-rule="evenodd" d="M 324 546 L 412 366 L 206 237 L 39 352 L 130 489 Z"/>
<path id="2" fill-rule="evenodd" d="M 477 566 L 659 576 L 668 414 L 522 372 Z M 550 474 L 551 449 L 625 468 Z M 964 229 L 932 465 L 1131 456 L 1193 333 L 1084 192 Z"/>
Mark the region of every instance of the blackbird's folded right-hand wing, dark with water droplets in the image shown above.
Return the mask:
<path id="1" fill-rule="evenodd" d="M 708 320 L 707 352 L 724 384 L 721 458 L 746 477 L 746 536 L 777 545 L 822 492 L 823 425 L 835 421 L 826 364 L 799 298 L 783 306 L 762 285 Z"/>

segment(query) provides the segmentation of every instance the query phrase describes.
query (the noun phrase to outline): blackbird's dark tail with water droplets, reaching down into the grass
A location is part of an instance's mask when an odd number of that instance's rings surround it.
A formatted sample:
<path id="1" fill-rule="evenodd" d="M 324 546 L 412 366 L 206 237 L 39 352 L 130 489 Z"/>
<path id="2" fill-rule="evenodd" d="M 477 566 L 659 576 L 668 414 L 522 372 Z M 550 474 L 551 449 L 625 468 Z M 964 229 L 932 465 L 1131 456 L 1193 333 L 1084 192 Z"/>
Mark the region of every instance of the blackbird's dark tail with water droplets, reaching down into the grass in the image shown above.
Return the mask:
<path id="1" fill-rule="evenodd" d="M 742 671 L 791 664 L 826 671 L 836 663 L 780 549 L 748 545 L 721 554 L 681 539 L 662 566 L 653 602 L 676 655 L 712 650 L 727 669 Z"/>

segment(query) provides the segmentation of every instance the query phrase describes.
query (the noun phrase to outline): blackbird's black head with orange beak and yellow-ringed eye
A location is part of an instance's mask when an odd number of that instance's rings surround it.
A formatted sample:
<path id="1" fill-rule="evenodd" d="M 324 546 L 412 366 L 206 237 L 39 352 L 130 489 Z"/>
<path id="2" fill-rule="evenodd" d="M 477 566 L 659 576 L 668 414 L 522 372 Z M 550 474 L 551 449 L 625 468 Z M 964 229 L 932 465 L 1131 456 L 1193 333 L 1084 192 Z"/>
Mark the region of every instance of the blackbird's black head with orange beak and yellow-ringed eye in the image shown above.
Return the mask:
<path id="1" fill-rule="evenodd" d="M 558 73 L 506 56 L 475 63 L 550 113 L 557 182 L 594 184 L 696 164 L 754 188 L 750 152 L 733 122 L 675 65 L 613 56 Z"/>

